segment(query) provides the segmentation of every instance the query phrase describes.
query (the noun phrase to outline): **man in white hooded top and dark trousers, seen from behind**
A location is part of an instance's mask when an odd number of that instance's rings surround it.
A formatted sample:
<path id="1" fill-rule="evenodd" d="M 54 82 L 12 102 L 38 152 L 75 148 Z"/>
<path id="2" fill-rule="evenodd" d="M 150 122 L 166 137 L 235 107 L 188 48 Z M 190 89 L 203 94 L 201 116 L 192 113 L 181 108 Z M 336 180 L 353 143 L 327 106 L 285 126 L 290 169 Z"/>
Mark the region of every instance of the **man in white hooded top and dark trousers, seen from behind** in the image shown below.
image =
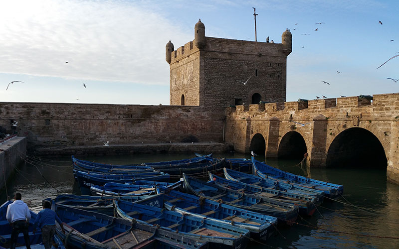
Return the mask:
<path id="1" fill-rule="evenodd" d="M 9 225 L 12 227 L 10 249 L 15 249 L 18 235 L 21 232 L 23 233 L 26 249 L 30 249 L 28 235 L 30 211 L 28 206 L 21 200 L 21 198 L 22 195 L 20 193 L 15 194 L 15 201 L 8 205 L 7 214 L 5 215 Z"/>

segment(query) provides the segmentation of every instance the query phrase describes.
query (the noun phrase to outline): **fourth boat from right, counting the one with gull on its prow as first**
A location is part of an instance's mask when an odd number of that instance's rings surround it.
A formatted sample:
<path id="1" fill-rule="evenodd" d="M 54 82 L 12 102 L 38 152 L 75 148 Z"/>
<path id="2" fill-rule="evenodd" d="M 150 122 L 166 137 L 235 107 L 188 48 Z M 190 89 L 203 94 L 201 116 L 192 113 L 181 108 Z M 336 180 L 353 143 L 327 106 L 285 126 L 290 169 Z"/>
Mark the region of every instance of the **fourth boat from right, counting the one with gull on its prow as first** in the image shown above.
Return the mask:
<path id="1" fill-rule="evenodd" d="M 183 174 L 183 180 L 185 190 L 197 196 L 274 216 L 280 223 L 292 225 L 298 217 L 298 207 L 291 204 L 227 189 L 185 174 Z"/>

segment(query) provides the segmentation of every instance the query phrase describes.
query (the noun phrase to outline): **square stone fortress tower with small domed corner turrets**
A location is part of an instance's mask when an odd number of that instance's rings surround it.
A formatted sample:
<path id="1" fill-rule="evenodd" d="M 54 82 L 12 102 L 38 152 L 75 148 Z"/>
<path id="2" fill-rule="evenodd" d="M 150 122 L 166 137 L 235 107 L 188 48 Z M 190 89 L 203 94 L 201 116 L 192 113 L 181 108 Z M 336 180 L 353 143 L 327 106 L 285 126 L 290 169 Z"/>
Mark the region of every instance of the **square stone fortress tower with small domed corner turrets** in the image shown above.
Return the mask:
<path id="1" fill-rule="evenodd" d="M 231 105 L 286 100 L 286 64 L 292 51 L 288 29 L 282 43 L 206 37 L 201 20 L 194 30 L 194 40 L 177 50 L 171 41 L 166 45 L 170 105 L 223 112 Z"/>

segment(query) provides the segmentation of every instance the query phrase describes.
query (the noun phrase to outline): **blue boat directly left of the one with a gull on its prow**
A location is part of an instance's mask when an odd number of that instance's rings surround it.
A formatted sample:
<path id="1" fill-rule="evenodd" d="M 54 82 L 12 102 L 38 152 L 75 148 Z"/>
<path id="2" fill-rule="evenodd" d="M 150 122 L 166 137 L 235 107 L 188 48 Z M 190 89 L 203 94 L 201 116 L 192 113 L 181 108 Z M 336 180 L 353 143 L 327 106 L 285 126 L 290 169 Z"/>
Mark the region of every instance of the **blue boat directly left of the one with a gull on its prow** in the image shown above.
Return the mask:
<path id="1" fill-rule="evenodd" d="M 258 185 L 264 188 L 273 188 L 277 190 L 283 190 L 293 194 L 303 194 L 313 197 L 319 197 L 320 201 L 323 201 L 324 192 L 316 189 L 309 189 L 298 184 L 286 183 L 284 181 L 278 181 L 271 178 L 262 178 L 260 176 L 246 174 L 231 169 L 223 169 L 224 177 L 227 180 L 239 181 L 247 184 Z"/>

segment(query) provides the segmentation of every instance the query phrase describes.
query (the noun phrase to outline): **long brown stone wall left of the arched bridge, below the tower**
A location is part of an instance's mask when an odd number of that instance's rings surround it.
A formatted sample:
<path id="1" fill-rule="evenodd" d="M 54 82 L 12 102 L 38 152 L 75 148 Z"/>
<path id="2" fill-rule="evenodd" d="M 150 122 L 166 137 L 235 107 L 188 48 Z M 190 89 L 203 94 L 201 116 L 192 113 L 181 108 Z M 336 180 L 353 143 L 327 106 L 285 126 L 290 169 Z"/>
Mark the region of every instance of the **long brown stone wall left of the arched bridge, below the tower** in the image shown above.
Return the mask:
<path id="1" fill-rule="evenodd" d="M 223 118 L 201 107 L 0 103 L 0 125 L 17 121 L 28 147 L 221 141 Z M 188 140 L 189 139 L 189 140 Z"/>

